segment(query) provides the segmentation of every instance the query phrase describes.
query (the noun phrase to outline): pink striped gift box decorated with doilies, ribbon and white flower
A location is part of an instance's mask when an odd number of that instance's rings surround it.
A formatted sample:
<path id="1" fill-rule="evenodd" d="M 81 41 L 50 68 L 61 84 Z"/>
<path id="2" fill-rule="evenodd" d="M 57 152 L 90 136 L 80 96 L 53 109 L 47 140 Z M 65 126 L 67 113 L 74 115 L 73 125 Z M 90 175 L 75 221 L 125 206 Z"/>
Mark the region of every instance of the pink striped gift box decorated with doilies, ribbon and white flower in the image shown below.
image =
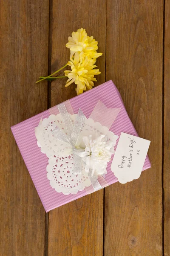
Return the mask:
<path id="1" fill-rule="evenodd" d="M 120 134 L 138 136 L 112 81 L 11 131 L 46 212 L 117 182 L 111 163 Z"/>

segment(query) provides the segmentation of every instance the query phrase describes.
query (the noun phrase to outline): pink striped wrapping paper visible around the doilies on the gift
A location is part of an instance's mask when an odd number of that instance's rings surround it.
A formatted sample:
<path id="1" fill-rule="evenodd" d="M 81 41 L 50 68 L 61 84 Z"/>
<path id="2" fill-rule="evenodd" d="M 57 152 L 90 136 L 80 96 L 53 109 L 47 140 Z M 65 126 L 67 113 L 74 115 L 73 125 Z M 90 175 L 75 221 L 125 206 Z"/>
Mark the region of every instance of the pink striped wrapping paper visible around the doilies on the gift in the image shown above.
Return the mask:
<path id="1" fill-rule="evenodd" d="M 98 87 L 82 93 L 67 102 L 71 104 L 74 113 L 78 113 L 79 108 L 81 108 L 85 116 L 88 118 L 91 116 L 91 113 L 99 100 L 102 101 L 107 108 L 121 108 L 118 116 L 111 125 L 110 131 L 113 131 L 113 133 L 118 136 L 120 136 L 121 132 L 138 136 L 129 116 L 127 115 L 122 98 L 116 86 L 113 84 L 113 81 L 108 81 L 99 85 Z M 65 105 L 67 105 L 67 102 L 65 102 Z M 63 193 L 56 192 L 55 189 L 50 186 L 46 172 L 48 157 L 46 157 L 45 154 L 42 154 L 40 148 L 37 146 L 34 128 L 38 126 L 41 118 L 48 118 L 52 113 L 58 113 L 57 106 L 11 127 L 11 131 L 46 212 L 87 195 L 85 189 L 83 191 L 79 191 L 76 195 L 64 195 Z M 109 116 L 105 116 L 105 119 L 107 121 Z M 106 184 L 108 185 L 117 182 L 117 178 L 111 171 L 111 162 L 112 161 L 108 163 L 108 173 L 105 175 Z M 143 170 L 148 168 L 150 168 L 150 160 L 147 156 Z"/>

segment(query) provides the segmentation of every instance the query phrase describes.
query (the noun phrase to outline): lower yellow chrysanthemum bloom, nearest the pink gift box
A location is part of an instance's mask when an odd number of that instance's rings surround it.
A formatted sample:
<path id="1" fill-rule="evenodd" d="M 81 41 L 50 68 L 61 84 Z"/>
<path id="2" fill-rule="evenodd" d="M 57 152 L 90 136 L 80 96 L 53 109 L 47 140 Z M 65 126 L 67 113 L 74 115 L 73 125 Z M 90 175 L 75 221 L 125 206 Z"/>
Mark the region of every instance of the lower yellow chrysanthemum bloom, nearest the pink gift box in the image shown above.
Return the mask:
<path id="1" fill-rule="evenodd" d="M 82 62 L 79 61 L 79 56 L 75 56 L 74 59 L 70 58 L 68 61 L 68 66 L 71 67 L 71 70 L 65 70 L 65 76 L 68 77 L 65 87 L 68 87 L 70 84 L 77 84 L 77 95 L 83 93 L 84 90 L 90 90 L 94 86 L 94 81 L 97 81 L 94 77 L 99 75 L 99 69 L 94 69 L 96 59 L 89 59 L 87 56 Z"/>

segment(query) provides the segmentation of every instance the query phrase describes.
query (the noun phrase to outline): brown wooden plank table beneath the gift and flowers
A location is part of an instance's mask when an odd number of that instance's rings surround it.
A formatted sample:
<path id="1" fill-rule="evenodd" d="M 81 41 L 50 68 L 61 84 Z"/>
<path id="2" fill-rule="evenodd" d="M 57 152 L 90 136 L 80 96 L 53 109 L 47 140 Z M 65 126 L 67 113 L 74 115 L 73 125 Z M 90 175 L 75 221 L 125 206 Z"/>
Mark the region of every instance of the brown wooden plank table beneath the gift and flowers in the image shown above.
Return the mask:
<path id="1" fill-rule="evenodd" d="M 1 0 L 0 12 L 0 255 L 170 256 L 170 1 Z M 45 213 L 10 126 L 76 95 L 35 81 L 68 61 L 81 27 L 103 52 L 96 85 L 116 84 L 152 168 Z"/>

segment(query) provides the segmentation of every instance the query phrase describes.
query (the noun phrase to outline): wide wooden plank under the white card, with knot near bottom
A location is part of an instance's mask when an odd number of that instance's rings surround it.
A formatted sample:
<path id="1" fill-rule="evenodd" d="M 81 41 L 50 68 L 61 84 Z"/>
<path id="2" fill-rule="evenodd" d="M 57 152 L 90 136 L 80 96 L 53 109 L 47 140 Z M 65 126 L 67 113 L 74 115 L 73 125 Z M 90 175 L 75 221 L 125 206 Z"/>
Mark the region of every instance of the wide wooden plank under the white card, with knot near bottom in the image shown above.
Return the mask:
<path id="1" fill-rule="evenodd" d="M 105 189 L 105 256 L 162 255 L 163 0 L 108 0 L 106 80 L 113 79 L 152 168 Z"/>

